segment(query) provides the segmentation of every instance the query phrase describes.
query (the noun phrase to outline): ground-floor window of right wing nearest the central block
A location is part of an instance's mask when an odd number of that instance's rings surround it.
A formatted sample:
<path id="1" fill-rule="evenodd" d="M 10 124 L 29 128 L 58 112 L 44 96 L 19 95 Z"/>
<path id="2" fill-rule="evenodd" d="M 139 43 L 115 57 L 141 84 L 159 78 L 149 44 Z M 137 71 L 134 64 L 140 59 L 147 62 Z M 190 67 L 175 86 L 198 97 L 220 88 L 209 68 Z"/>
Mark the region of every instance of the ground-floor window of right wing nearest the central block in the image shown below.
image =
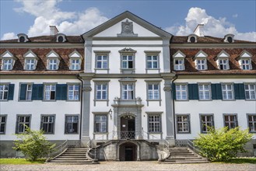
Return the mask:
<path id="1" fill-rule="evenodd" d="M 190 120 L 188 115 L 177 115 L 177 133 L 190 133 Z"/>

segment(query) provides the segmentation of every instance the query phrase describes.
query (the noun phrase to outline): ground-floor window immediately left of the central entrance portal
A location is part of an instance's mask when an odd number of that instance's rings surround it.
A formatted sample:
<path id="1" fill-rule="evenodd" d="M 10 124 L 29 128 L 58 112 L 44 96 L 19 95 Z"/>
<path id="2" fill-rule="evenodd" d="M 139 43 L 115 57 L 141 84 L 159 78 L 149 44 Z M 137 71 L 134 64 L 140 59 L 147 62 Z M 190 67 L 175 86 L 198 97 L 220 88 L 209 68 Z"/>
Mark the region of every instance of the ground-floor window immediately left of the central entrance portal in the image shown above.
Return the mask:
<path id="1" fill-rule="evenodd" d="M 94 132 L 107 132 L 107 115 L 94 116 Z"/>

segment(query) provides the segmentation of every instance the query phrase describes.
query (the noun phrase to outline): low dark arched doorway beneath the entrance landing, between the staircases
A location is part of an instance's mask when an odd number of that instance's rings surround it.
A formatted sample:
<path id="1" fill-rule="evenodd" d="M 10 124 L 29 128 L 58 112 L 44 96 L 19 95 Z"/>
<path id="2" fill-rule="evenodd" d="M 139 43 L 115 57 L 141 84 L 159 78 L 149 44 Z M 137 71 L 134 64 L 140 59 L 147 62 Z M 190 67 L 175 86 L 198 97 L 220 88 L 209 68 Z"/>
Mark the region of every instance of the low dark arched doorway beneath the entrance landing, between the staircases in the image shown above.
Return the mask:
<path id="1" fill-rule="evenodd" d="M 136 161 L 137 160 L 137 145 L 132 142 L 125 142 L 119 146 L 120 161 Z"/>

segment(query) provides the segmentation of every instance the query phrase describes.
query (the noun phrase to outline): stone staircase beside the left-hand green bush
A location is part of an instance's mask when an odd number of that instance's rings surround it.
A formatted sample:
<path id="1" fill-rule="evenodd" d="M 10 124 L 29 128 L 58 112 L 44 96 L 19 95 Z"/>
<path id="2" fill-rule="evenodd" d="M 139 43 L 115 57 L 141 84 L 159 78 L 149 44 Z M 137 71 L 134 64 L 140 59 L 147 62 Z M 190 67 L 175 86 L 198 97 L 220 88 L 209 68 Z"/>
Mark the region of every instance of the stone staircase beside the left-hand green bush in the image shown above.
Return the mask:
<path id="1" fill-rule="evenodd" d="M 61 155 L 58 155 L 54 159 L 47 161 L 51 164 L 96 164 L 96 160 L 93 160 L 88 155 L 89 148 L 68 148 Z"/>

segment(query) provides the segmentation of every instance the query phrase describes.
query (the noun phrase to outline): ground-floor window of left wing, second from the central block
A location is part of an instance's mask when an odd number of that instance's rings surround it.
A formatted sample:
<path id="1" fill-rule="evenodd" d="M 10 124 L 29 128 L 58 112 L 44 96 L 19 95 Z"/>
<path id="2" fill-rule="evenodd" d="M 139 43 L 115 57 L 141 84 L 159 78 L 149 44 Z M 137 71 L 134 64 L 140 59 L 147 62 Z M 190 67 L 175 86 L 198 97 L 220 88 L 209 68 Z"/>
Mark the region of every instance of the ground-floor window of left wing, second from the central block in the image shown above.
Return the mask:
<path id="1" fill-rule="evenodd" d="M 40 128 L 44 134 L 54 134 L 54 116 L 42 116 Z"/>

